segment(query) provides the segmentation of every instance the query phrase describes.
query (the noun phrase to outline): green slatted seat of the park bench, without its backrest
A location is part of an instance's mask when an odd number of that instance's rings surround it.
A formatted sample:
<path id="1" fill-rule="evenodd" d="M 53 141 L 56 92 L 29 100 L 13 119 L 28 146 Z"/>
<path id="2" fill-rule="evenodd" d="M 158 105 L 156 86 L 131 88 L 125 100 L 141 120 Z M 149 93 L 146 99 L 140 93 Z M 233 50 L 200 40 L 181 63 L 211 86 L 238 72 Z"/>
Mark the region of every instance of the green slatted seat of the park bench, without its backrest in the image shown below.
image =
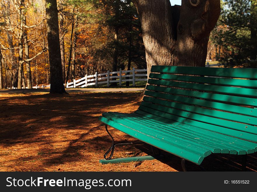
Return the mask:
<path id="1" fill-rule="evenodd" d="M 211 153 L 244 155 L 257 151 L 257 143 L 175 122 L 141 110 L 131 114 L 103 113 L 99 120 L 197 165 Z"/>

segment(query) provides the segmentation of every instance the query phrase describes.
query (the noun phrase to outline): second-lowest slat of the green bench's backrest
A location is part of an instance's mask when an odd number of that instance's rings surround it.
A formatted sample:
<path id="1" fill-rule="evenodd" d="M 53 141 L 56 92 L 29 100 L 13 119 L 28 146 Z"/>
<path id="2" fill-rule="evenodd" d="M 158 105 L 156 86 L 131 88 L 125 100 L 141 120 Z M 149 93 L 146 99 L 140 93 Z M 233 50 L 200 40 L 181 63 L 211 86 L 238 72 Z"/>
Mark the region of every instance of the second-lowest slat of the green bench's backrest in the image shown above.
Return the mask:
<path id="1" fill-rule="evenodd" d="M 252 126 L 252 125 L 227 121 L 227 120 L 209 117 L 209 116 L 205 116 L 205 115 L 199 115 L 196 113 L 177 110 L 175 108 L 168 108 L 168 107 L 164 107 L 162 105 L 156 105 L 156 104 L 152 104 L 152 103 L 142 102 L 140 106 L 146 106 L 146 107 L 152 108 L 154 110 L 162 111 L 165 113 L 170 113 L 170 114 L 180 116 L 180 117 L 185 117 L 185 118 L 191 119 L 191 120 L 196 120 L 196 121 L 206 122 L 206 123 L 213 124 L 213 125 L 218 125 L 220 127 L 235 129 L 235 130 L 238 130 L 241 132 L 246 132 L 246 133 L 251 133 L 251 134 L 257 134 L 257 127 Z"/>

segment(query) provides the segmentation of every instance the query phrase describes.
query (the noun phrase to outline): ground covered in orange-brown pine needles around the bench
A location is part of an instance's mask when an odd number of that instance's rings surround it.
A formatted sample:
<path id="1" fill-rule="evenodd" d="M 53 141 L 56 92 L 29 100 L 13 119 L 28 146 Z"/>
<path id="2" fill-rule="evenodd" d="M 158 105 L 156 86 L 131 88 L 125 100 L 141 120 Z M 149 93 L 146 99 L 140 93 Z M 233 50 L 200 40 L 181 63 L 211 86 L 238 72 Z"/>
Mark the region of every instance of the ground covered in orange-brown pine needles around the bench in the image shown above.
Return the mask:
<path id="1" fill-rule="evenodd" d="M 140 92 L 2 94 L 0 96 L 0 171 L 181 171 L 180 158 L 162 152 L 158 160 L 102 165 L 111 139 L 98 121 L 103 112 L 131 113 Z M 117 141 L 134 141 L 111 128 Z M 118 138 L 118 139 L 117 139 Z M 113 158 L 152 155 L 149 145 L 118 146 Z M 249 155 L 249 171 L 257 170 Z M 237 155 L 210 155 L 208 171 L 240 171 Z M 187 162 L 189 171 L 200 169 Z"/>

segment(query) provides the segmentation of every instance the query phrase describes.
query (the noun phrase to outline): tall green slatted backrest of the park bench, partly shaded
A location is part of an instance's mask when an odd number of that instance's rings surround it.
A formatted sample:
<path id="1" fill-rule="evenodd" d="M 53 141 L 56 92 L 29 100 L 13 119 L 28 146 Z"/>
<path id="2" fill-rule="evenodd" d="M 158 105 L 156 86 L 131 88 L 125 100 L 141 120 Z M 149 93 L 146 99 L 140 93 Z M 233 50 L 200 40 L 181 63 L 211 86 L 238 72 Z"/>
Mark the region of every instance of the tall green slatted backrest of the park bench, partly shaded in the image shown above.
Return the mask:
<path id="1" fill-rule="evenodd" d="M 257 142 L 257 69 L 152 66 L 139 110 Z"/>

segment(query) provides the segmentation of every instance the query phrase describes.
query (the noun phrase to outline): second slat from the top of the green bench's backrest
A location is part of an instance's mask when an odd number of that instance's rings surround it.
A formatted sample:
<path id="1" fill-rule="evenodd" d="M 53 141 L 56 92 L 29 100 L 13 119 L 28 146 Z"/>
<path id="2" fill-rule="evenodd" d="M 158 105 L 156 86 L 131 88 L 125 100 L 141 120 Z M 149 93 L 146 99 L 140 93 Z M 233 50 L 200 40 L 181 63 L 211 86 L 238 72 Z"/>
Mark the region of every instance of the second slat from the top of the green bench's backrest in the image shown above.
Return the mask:
<path id="1" fill-rule="evenodd" d="M 218 84 L 218 85 L 227 85 L 227 86 L 235 86 L 235 87 L 257 88 L 257 81 L 249 80 L 249 79 L 228 79 L 228 78 L 217 78 L 217 77 L 198 77 L 198 76 L 170 75 L 170 74 L 157 74 L 157 73 L 150 73 L 149 78 L 168 79 L 168 80 L 206 83 L 206 84 Z"/>

